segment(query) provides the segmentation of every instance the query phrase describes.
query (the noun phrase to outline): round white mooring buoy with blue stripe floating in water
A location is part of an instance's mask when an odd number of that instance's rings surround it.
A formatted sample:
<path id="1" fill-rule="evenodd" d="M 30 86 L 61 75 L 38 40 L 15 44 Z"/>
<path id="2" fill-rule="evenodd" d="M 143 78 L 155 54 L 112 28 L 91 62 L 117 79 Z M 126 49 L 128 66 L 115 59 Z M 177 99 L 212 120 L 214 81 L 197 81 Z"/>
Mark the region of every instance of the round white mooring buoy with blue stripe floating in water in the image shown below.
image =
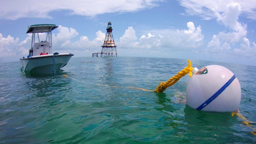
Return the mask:
<path id="1" fill-rule="evenodd" d="M 223 66 L 194 68 L 188 82 L 186 104 L 191 108 L 213 112 L 238 110 L 241 87 L 233 72 Z"/>

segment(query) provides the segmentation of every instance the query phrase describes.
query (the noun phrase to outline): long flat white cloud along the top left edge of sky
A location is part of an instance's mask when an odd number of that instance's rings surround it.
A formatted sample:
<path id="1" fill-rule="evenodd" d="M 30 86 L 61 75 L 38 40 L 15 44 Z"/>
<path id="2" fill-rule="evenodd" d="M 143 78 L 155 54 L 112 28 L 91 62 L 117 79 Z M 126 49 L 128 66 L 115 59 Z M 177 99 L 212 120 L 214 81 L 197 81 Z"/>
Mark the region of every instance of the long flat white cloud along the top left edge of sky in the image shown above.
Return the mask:
<path id="1" fill-rule="evenodd" d="M 52 18 L 49 13 L 56 10 L 94 17 L 104 13 L 136 12 L 153 8 L 158 6 L 159 1 L 162 0 L 4 0 L 0 5 L 0 19 Z"/>

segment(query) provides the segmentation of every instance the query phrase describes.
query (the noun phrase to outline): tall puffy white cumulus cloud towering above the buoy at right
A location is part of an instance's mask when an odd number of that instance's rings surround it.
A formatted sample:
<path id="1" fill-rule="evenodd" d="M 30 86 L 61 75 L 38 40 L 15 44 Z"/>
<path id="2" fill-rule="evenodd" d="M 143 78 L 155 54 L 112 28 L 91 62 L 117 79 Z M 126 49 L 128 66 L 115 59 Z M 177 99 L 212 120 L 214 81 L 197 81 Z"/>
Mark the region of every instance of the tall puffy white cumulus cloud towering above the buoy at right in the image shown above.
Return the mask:
<path id="1" fill-rule="evenodd" d="M 240 4 L 230 3 L 226 5 L 226 10 L 222 14 L 216 13 L 218 22 L 230 28 L 231 32 L 219 32 L 218 35 L 214 35 L 208 43 L 206 51 L 214 53 L 225 52 L 226 54 L 239 56 L 243 54 L 252 56 L 255 54 L 255 51 L 250 48 L 249 40 L 246 38 L 246 24 L 238 22 L 240 10 Z M 242 42 L 240 48 L 231 47 L 238 42 Z"/>

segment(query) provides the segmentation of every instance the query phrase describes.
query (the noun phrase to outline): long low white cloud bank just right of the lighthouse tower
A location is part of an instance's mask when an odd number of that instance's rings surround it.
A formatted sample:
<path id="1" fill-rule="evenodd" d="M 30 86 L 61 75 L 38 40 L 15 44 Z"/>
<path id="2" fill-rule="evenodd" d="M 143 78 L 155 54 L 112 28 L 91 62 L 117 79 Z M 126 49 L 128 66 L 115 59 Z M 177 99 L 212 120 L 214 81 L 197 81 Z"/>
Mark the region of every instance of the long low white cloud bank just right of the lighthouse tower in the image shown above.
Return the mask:
<path id="1" fill-rule="evenodd" d="M 151 30 L 147 36 L 142 35 L 140 39 L 137 39 L 133 27 L 128 27 L 118 45 L 125 49 L 151 49 L 161 52 L 199 48 L 204 38 L 201 26 L 195 27 L 193 22 L 188 22 L 187 27 L 187 30 Z"/>

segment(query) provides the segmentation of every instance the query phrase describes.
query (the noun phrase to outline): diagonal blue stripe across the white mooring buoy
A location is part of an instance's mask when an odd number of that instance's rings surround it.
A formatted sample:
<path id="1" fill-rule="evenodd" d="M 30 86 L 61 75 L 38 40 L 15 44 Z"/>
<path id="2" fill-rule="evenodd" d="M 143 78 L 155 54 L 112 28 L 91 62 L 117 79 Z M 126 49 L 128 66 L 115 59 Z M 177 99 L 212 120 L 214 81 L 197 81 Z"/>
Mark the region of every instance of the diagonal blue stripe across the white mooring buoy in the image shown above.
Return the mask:
<path id="1" fill-rule="evenodd" d="M 233 82 L 233 80 L 235 78 L 236 78 L 236 76 L 233 75 L 232 78 L 230 78 L 230 80 L 228 80 L 228 82 L 226 82 L 226 84 L 224 84 L 224 86 L 222 86 L 214 95 L 212 95 L 208 100 L 206 100 L 203 104 L 201 104 L 201 106 L 196 108 L 196 110 L 202 110 L 204 107 L 206 107 L 208 104 L 210 104 L 215 98 L 217 98 L 231 84 L 231 82 Z"/>

